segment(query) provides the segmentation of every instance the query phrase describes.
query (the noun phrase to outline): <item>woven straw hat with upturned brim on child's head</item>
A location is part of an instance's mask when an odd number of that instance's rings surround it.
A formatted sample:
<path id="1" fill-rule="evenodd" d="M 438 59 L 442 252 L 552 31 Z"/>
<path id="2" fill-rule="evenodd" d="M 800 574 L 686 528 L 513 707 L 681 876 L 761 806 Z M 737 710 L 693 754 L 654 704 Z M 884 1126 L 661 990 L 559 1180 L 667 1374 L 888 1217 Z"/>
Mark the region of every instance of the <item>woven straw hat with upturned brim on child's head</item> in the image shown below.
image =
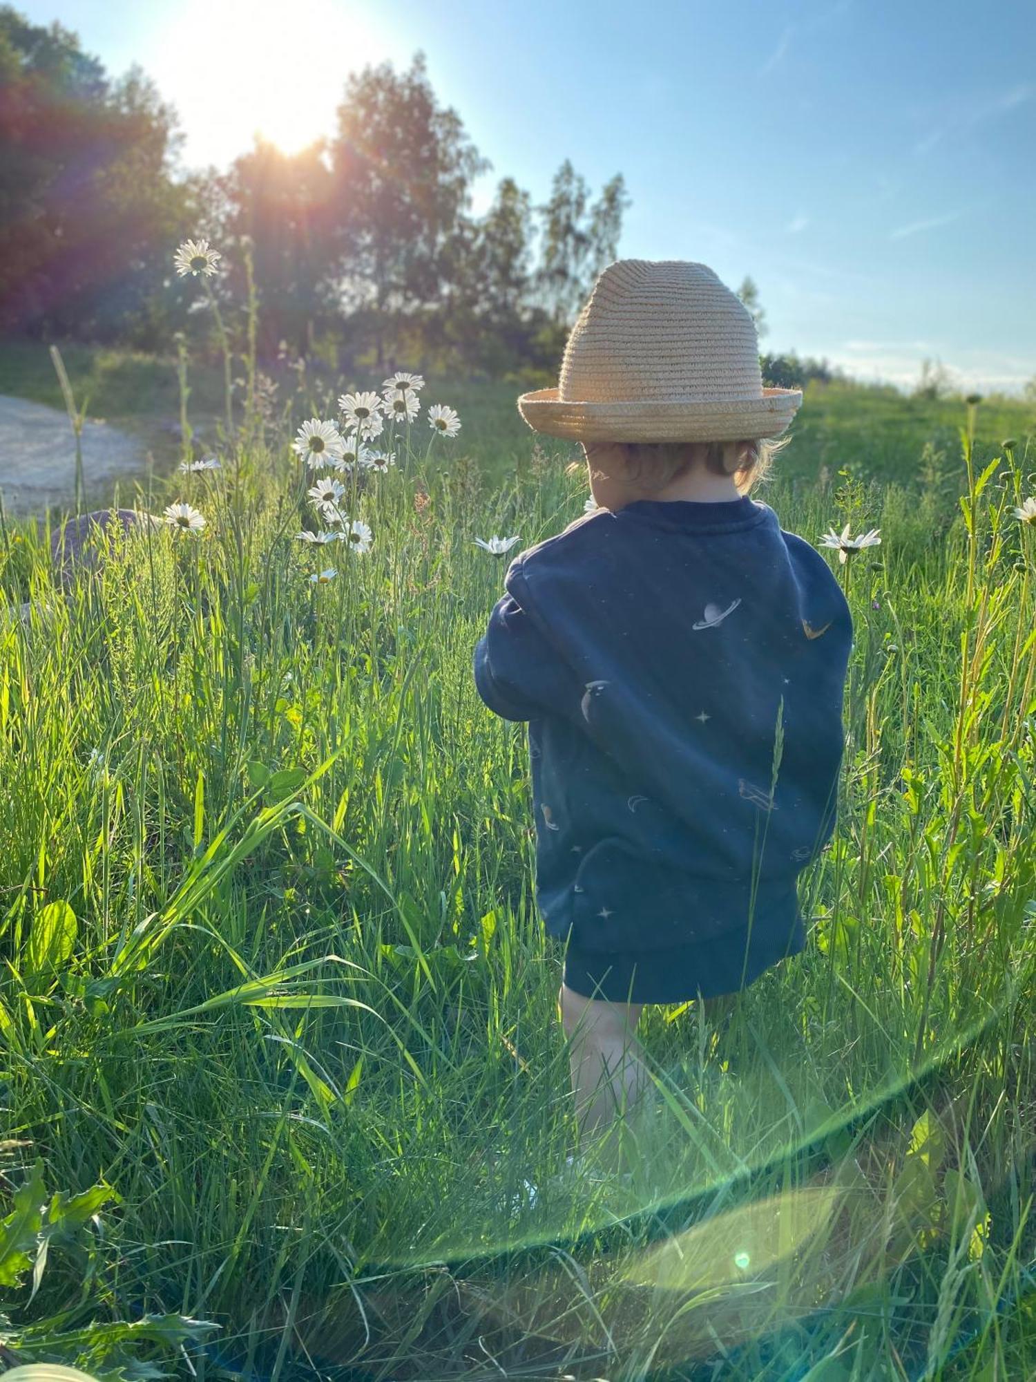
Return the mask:
<path id="1" fill-rule="evenodd" d="M 764 388 L 751 314 L 706 264 L 616 260 L 565 346 L 558 388 L 522 394 L 536 431 L 579 441 L 774 438 L 803 402 Z"/>

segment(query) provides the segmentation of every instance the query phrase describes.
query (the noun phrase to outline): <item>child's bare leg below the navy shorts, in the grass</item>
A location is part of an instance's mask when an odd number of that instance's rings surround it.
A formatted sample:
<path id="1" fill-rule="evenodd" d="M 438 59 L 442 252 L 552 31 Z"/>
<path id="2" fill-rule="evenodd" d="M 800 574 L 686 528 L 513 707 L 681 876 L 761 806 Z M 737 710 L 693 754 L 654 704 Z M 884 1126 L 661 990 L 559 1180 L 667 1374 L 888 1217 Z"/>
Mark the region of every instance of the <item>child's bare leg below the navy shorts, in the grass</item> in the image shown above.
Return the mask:
<path id="1" fill-rule="evenodd" d="M 580 1143 L 606 1133 L 616 1118 L 633 1117 L 649 1085 L 635 1036 L 642 1003 L 584 998 L 565 984 L 558 991 L 561 1023 L 569 1038 L 572 1090 Z"/>

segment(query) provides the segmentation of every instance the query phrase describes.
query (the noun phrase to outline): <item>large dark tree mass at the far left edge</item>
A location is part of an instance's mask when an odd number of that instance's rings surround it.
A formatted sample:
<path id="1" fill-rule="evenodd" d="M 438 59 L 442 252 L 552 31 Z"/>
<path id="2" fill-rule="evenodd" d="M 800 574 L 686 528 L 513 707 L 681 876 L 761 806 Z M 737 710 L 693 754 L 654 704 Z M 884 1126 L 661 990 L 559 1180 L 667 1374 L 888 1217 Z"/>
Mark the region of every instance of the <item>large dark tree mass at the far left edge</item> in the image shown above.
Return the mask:
<path id="1" fill-rule="evenodd" d="M 0 8 L 0 323 L 148 344 L 188 220 L 175 115 L 58 23 Z"/>

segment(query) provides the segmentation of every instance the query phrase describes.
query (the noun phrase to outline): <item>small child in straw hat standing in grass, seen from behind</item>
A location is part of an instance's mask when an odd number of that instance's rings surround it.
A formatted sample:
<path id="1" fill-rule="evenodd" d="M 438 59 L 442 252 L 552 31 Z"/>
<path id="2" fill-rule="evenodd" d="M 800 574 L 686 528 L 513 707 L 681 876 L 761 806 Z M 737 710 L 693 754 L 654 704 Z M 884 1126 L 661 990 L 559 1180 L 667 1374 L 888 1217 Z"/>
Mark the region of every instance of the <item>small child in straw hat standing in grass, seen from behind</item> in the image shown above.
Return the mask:
<path id="1" fill-rule="evenodd" d="M 673 260 L 611 264 L 559 387 L 518 399 L 582 442 L 598 504 L 515 557 L 474 654 L 489 709 L 529 723 L 583 1133 L 641 1097 L 644 1003 L 722 1005 L 805 945 L 852 621 L 819 551 L 749 498 L 801 399 L 762 388 L 738 297 Z"/>

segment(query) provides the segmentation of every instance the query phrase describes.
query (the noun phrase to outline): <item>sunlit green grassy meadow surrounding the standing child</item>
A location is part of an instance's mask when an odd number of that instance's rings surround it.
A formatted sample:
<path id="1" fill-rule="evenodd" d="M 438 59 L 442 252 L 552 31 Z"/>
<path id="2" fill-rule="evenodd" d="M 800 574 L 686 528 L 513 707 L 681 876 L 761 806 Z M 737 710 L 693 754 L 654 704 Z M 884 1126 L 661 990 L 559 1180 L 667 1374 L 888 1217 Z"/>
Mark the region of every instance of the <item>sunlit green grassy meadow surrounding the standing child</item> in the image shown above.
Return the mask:
<path id="1" fill-rule="evenodd" d="M 7 350 L 6 387 L 59 405 Z M 91 415 L 180 416 L 175 357 L 66 365 Z M 398 463 L 343 477 L 370 549 L 303 542 L 325 471 L 296 428 L 378 384 L 329 368 L 238 408 L 218 471 L 177 452 L 117 496 L 204 527 L 131 532 L 68 586 L 47 525 L 4 518 L 4 1363 L 1032 1375 L 1032 409 L 811 383 L 753 491 L 814 545 L 880 529 L 821 549 L 855 623 L 838 826 L 803 956 L 718 1031 L 645 1012 L 626 1184 L 561 1175 L 525 731 L 471 676 L 510 560 L 475 539 L 559 532 L 586 475 L 518 386 L 430 377 Z M 221 386 L 191 365 L 213 430 Z"/>

